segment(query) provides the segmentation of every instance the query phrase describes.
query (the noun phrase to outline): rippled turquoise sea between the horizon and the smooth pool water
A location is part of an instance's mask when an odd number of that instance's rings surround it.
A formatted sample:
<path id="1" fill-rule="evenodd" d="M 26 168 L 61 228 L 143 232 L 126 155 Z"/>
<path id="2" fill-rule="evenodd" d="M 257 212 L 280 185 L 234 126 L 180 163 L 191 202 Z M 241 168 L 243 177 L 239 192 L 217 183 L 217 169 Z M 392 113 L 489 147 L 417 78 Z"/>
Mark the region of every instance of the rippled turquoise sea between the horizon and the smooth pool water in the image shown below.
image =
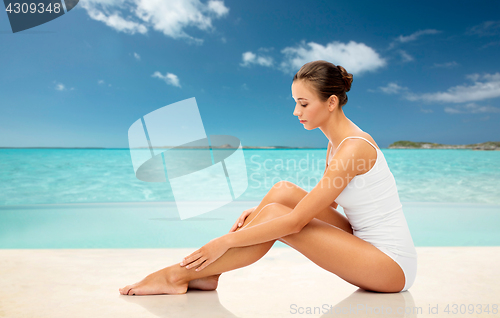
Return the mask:
<path id="1" fill-rule="evenodd" d="M 500 151 L 382 149 L 400 200 L 500 204 Z M 248 188 L 256 201 L 274 183 L 311 190 L 326 149 L 245 149 Z M 135 177 L 128 149 L 0 149 L 0 205 L 173 201 L 167 182 Z"/>

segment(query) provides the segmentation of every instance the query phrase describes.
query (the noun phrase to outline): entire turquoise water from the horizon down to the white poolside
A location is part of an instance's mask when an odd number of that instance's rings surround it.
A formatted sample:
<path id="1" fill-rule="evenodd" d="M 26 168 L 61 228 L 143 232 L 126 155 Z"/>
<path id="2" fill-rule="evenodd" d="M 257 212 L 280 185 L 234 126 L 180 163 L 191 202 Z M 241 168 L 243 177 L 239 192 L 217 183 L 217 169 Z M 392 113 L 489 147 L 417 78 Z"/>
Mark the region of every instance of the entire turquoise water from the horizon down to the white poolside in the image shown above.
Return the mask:
<path id="1" fill-rule="evenodd" d="M 500 151 L 382 152 L 415 245 L 500 245 Z M 312 189 L 326 149 L 244 155 L 246 192 L 181 221 L 168 182 L 138 180 L 128 149 L 0 149 L 0 248 L 197 247 L 227 233 L 274 183 Z"/>

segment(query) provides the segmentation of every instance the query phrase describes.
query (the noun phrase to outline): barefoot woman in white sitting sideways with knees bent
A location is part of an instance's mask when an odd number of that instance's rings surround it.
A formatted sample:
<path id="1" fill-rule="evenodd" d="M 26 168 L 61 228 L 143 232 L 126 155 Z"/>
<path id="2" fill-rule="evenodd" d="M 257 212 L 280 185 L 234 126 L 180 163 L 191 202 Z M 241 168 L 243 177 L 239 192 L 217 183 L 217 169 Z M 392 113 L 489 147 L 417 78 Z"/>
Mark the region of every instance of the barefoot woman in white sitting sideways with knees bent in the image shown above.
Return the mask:
<path id="1" fill-rule="evenodd" d="M 326 61 L 307 63 L 294 76 L 293 114 L 305 129 L 319 128 L 329 140 L 325 172 L 309 193 L 278 182 L 228 234 L 120 293 L 213 290 L 221 273 L 256 262 L 276 240 L 365 290 L 407 290 L 416 276 L 416 250 L 382 151 L 342 111 L 351 83 L 352 74 Z"/>

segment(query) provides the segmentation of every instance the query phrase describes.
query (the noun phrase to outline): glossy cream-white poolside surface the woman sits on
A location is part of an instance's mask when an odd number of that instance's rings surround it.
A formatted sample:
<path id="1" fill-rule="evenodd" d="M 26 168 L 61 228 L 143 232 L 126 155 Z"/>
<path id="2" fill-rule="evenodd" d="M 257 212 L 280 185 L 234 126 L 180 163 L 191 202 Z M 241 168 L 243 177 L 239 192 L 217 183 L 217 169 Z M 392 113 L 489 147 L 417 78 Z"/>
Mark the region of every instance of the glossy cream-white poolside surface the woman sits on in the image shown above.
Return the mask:
<path id="1" fill-rule="evenodd" d="M 498 246 L 417 247 L 417 278 L 403 293 L 363 291 L 291 248 L 273 247 L 258 262 L 222 274 L 216 291 L 119 294 L 119 287 L 177 263 L 194 250 L 0 250 L 0 317 L 500 316 L 492 312 L 492 306 L 498 310 L 500 304 Z M 489 313 L 484 312 L 486 305 Z"/>

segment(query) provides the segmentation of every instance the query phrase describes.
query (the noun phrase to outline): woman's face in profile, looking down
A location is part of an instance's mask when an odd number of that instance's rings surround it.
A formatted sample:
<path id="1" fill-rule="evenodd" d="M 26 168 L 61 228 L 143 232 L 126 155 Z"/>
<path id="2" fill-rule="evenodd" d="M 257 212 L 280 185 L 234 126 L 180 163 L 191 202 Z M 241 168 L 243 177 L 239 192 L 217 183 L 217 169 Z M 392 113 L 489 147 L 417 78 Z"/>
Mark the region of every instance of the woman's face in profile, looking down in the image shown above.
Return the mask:
<path id="1" fill-rule="evenodd" d="M 316 129 L 326 123 L 330 115 L 330 99 L 321 101 L 309 84 L 301 80 L 292 83 L 292 97 L 296 103 L 293 115 L 298 117 L 305 129 Z"/>

